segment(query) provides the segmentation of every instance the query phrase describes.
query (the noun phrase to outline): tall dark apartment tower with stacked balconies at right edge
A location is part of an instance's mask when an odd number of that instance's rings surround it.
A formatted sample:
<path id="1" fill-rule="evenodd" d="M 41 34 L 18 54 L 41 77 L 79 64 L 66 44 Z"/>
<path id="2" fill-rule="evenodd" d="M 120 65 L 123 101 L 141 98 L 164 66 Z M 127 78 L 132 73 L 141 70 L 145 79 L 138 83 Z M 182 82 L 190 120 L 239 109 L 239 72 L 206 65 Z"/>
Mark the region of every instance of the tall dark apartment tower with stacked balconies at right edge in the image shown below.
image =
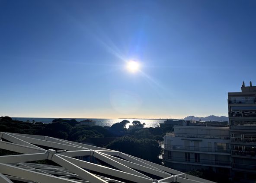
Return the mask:
<path id="1" fill-rule="evenodd" d="M 238 182 L 256 180 L 256 86 L 228 93 L 232 173 Z"/>

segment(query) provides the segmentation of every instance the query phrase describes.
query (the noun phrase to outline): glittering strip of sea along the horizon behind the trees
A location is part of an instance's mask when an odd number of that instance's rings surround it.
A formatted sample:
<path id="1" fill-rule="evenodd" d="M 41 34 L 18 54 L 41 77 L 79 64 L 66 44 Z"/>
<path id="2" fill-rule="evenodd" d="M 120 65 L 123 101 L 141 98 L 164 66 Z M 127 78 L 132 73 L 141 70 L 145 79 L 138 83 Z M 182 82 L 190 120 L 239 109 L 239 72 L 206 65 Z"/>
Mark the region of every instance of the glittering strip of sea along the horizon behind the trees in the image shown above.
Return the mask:
<path id="1" fill-rule="evenodd" d="M 57 118 L 40 118 L 40 117 L 12 117 L 13 120 L 19 120 L 19 121 L 28 121 L 31 122 L 32 120 L 35 120 L 35 122 L 42 122 L 42 123 L 51 123 L 52 120 L 57 119 Z M 132 121 L 138 120 L 141 123 L 145 123 L 145 128 L 149 127 L 157 127 L 159 126 L 159 123 L 164 123 L 165 120 L 143 120 L 143 119 L 99 119 L 99 118 L 62 118 L 65 120 L 71 120 L 75 119 L 77 121 L 82 121 L 82 120 L 94 120 L 96 121 L 96 125 L 98 126 L 112 126 L 112 124 L 121 122 L 122 120 L 128 120 L 130 123 L 126 125 L 126 128 L 129 128 L 129 125 L 132 125 Z"/>

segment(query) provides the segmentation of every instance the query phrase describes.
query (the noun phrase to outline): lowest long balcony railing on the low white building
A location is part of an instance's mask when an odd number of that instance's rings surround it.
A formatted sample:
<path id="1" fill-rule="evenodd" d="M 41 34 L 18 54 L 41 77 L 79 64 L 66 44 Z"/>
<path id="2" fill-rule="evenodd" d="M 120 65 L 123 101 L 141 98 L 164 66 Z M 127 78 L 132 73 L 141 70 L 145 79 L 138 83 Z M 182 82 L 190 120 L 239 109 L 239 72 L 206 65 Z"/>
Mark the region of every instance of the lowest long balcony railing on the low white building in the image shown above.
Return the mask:
<path id="1" fill-rule="evenodd" d="M 186 159 L 186 158 L 179 158 L 179 157 L 166 157 L 163 155 L 163 160 L 169 161 L 177 161 L 183 163 L 196 163 L 196 164 L 209 164 L 209 165 L 222 165 L 222 166 L 231 166 L 230 161 L 215 161 L 215 160 L 208 160 L 208 159 Z"/>

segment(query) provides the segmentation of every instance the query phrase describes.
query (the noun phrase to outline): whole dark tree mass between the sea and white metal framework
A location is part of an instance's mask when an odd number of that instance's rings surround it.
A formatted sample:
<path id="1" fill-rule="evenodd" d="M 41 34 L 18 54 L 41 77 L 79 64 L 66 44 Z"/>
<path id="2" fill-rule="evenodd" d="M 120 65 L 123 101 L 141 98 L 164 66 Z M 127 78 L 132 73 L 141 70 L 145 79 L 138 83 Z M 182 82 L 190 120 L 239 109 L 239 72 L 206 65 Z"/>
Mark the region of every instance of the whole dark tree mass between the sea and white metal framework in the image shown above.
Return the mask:
<path id="1" fill-rule="evenodd" d="M 0 131 L 52 136 L 76 142 L 81 142 L 87 138 L 123 136 L 110 142 L 106 148 L 115 149 L 129 155 L 134 155 L 138 158 L 160 163 L 158 155 L 161 152 L 161 148 L 157 142 L 162 140 L 161 135 L 163 134 L 163 130 L 160 128 L 127 130 L 125 126 L 129 123 L 128 120 L 115 123 L 111 127 L 86 125 L 74 126 L 75 123 L 77 123 L 76 120 L 63 119 L 53 120 L 53 123 L 49 124 L 41 122 L 26 123 L 21 121 L 1 120 Z M 0 151 L 0 153 L 4 152 Z"/>

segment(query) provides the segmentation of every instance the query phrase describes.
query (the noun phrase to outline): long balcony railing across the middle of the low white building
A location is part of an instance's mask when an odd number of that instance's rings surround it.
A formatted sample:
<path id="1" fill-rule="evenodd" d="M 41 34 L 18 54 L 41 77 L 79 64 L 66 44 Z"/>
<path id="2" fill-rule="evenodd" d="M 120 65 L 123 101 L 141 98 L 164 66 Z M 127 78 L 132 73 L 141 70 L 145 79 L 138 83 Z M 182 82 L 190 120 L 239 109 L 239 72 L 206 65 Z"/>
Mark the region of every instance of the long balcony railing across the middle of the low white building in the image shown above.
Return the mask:
<path id="1" fill-rule="evenodd" d="M 203 151 L 203 152 L 224 152 L 230 153 L 230 149 L 226 146 L 219 148 L 184 146 L 184 145 L 164 145 L 166 150 L 185 150 L 185 151 Z"/>

